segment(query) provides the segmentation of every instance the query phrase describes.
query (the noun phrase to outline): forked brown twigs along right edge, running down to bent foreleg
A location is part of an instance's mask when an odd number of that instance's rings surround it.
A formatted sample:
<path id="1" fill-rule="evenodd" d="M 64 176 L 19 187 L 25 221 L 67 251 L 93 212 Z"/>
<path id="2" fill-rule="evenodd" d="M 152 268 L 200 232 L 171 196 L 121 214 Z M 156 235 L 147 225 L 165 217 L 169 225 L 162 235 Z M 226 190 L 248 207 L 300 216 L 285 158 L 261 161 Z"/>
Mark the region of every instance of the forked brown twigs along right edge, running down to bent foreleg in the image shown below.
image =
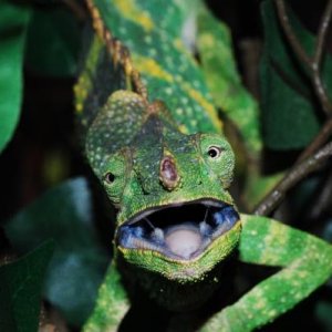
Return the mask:
<path id="1" fill-rule="evenodd" d="M 328 158 L 332 154 L 332 143 L 326 144 L 323 148 L 318 151 L 324 144 L 332 132 L 332 104 L 329 100 L 328 93 L 324 89 L 321 80 L 321 64 L 323 58 L 323 48 L 328 28 L 331 21 L 332 14 L 332 0 L 329 0 L 325 11 L 322 15 L 318 40 L 315 44 L 314 56 L 308 55 L 294 34 L 289 17 L 287 14 L 286 6 L 283 0 L 274 0 L 277 6 L 278 17 L 283 29 L 283 32 L 293 50 L 295 55 L 309 68 L 311 72 L 311 80 L 313 89 L 320 100 L 321 106 L 328 120 L 321 128 L 320 133 L 313 139 L 313 142 L 305 148 L 300 155 L 294 166 L 287 173 L 287 175 L 274 186 L 274 188 L 258 204 L 255 209 L 256 215 L 268 215 L 270 214 L 280 201 L 283 199 L 286 193 L 294 186 L 305 175 L 317 169 L 321 162 Z M 318 152 L 317 152 L 318 151 Z M 317 153 L 315 153 L 317 152 Z"/>

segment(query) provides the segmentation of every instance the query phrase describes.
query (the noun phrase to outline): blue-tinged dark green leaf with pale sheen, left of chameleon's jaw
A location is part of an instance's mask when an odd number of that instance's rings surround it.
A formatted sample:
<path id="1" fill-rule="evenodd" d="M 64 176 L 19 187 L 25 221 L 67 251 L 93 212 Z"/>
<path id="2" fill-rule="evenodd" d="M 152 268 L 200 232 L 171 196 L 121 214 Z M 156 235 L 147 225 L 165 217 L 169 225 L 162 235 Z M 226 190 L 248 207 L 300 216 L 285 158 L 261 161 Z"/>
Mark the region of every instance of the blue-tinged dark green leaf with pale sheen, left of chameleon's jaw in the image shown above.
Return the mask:
<path id="1" fill-rule="evenodd" d="M 55 240 L 44 297 L 75 325 L 92 310 L 107 263 L 93 218 L 87 184 L 77 178 L 49 190 L 4 227 L 22 252 L 45 239 Z"/>

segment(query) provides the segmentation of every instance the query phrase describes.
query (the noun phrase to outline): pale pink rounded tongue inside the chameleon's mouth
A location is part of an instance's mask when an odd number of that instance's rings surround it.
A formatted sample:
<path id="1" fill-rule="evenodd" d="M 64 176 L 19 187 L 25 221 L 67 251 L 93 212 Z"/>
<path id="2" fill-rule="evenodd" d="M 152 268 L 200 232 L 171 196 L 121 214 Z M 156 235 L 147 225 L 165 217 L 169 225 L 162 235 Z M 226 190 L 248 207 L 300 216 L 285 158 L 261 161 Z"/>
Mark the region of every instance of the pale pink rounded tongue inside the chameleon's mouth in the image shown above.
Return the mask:
<path id="1" fill-rule="evenodd" d="M 170 231 L 165 242 L 177 256 L 189 258 L 201 245 L 201 236 L 195 229 L 179 228 Z"/>

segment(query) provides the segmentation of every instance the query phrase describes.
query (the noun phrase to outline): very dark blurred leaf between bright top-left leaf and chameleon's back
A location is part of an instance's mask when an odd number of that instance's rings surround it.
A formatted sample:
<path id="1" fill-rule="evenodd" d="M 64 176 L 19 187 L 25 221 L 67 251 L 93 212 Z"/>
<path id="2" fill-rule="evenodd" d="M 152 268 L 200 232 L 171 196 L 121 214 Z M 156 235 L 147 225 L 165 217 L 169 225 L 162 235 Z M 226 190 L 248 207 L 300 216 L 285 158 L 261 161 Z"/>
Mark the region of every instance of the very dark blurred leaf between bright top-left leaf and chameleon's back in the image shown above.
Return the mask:
<path id="1" fill-rule="evenodd" d="M 35 9 L 27 38 L 29 70 L 53 77 L 76 74 L 81 35 L 79 22 L 68 8 Z"/>

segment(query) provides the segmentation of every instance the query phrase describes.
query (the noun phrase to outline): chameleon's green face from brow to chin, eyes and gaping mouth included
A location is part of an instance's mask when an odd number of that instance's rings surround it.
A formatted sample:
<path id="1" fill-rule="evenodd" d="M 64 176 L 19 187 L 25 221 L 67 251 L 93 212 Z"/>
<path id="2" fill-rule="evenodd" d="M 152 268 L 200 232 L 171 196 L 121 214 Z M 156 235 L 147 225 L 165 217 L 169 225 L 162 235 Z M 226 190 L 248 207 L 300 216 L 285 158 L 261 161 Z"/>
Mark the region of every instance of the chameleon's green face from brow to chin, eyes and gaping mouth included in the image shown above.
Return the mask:
<path id="1" fill-rule="evenodd" d="M 227 191 L 234 153 L 219 135 L 184 135 L 160 123 L 151 116 L 101 172 L 120 208 L 115 243 L 125 261 L 168 280 L 203 279 L 239 240 Z"/>

